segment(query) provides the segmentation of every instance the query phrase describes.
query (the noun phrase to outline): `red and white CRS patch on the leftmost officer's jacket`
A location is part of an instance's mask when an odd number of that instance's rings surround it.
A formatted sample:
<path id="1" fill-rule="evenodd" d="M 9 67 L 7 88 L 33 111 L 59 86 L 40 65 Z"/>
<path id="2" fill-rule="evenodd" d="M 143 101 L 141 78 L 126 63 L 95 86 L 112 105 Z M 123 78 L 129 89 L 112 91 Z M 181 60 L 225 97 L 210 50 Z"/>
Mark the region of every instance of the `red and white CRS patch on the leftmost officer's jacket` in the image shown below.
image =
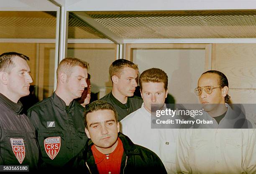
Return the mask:
<path id="1" fill-rule="evenodd" d="M 13 153 L 21 164 L 25 158 L 25 145 L 23 139 L 10 138 L 11 145 L 13 147 Z"/>

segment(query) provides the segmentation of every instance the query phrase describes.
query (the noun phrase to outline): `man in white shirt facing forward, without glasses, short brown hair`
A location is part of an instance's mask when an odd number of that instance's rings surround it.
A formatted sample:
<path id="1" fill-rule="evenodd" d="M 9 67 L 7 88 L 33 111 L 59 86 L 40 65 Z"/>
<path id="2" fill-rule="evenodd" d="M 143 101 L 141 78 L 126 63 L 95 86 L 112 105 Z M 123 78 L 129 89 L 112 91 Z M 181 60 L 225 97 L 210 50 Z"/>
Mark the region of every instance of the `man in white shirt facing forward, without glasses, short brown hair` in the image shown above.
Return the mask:
<path id="1" fill-rule="evenodd" d="M 121 132 L 138 145 L 155 152 L 167 173 L 176 173 L 175 149 L 178 129 L 151 129 L 151 104 L 166 108 L 168 76 L 163 70 L 151 68 L 142 72 L 139 78 L 143 104 L 140 109 L 120 121 Z"/>

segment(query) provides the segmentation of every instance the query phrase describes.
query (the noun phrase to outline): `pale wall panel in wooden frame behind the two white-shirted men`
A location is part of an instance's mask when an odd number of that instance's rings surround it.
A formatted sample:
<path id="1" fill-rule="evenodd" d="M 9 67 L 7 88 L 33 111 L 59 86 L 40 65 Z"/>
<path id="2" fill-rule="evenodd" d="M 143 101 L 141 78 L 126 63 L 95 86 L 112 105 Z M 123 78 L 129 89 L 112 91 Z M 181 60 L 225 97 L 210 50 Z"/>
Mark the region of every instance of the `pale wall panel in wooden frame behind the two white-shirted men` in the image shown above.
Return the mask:
<path id="1" fill-rule="evenodd" d="M 168 75 L 168 93 L 176 103 L 198 103 L 194 89 L 205 70 L 205 50 L 133 50 L 133 62 L 138 64 L 140 73 L 152 67 L 164 70 Z"/>

